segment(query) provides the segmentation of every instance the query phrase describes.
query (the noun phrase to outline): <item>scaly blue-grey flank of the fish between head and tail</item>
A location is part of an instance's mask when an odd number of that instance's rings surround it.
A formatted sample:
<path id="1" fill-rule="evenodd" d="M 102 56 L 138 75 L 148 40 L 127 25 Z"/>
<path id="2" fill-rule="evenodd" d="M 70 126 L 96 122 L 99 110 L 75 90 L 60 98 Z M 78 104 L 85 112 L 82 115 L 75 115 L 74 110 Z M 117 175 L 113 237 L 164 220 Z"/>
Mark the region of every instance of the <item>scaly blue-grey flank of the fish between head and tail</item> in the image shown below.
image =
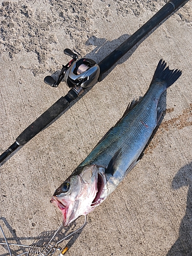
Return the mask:
<path id="1" fill-rule="evenodd" d="M 139 103 L 133 109 L 126 110 L 125 117 L 120 119 L 79 167 L 97 164 L 106 168 L 112 156 L 121 148 L 124 166 L 128 168 L 139 157 L 157 125 L 157 103 L 165 90 L 166 83 L 164 86 L 152 84 Z M 123 172 L 127 168 L 124 167 Z"/>

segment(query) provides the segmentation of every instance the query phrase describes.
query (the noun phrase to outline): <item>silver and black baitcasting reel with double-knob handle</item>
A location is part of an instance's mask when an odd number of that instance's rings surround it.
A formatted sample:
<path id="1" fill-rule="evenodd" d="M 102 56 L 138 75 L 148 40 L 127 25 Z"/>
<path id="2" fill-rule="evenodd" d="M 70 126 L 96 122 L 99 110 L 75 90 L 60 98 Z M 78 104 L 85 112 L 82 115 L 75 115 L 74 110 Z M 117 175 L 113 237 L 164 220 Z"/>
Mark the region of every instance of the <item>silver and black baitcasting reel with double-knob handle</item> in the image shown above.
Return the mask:
<path id="1" fill-rule="evenodd" d="M 58 80 L 52 76 L 46 76 L 44 82 L 52 87 L 58 87 L 64 78 L 69 88 L 87 88 L 93 86 L 99 77 L 100 69 L 96 62 L 88 58 L 80 58 L 70 49 L 65 49 L 64 53 L 72 57 L 72 60 L 66 65 L 62 65 Z"/>

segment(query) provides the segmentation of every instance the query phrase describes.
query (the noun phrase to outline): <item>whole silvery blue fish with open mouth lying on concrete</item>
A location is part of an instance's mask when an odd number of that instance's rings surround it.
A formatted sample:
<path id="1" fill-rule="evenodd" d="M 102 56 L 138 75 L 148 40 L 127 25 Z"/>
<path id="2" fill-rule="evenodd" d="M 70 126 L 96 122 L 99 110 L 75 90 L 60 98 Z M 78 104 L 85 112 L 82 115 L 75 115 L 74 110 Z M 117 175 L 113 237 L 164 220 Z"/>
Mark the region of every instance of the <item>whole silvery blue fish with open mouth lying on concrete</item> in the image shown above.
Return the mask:
<path id="1" fill-rule="evenodd" d="M 127 106 L 120 120 L 55 190 L 50 202 L 61 210 L 63 226 L 93 211 L 139 162 L 163 113 L 159 99 L 181 74 L 161 59 L 144 96 Z"/>

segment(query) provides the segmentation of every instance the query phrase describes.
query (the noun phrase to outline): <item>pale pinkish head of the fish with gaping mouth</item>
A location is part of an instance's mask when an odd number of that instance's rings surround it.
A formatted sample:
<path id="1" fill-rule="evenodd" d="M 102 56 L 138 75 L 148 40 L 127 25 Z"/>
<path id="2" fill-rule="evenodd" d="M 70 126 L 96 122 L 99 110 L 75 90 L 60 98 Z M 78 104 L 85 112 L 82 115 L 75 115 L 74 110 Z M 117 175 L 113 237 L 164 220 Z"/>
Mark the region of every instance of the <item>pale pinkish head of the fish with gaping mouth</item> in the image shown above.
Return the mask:
<path id="1" fill-rule="evenodd" d="M 87 165 L 76 169 L 56 190 L 51 203 L 62 211 L 63 226 L 93 210 L 97 194 L 98 167 Z"/>

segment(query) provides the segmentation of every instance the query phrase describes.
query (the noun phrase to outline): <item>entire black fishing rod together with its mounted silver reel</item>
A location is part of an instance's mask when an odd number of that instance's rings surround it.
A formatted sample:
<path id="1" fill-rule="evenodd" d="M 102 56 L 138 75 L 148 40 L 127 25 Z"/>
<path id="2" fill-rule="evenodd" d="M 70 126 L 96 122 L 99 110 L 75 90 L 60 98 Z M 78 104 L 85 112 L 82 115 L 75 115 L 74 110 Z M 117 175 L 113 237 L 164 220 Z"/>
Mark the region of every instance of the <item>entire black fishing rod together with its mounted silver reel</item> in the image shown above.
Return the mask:
<path id="1" fill-rule="evenodd" d="M 70 91 L 67 95 L 58 99 L 50 108 L 31 123 L 15 140 L 15 142 L 0 156 L 0 163 L 3 162 L 19 146 L 23 146 L 40 131 L 59 116 L 70 103 L 77 99 L 89 87 L 100 82 L 102 75 L 108 71 L 115 63 L 129 50 L 131 50 L 146 34 L 159 25 L 168 15 L 181 6 L 186 0 L 168 1 L 151 19 L 149 19 L 133 35 L 127 38 L 119 47 L 101 60 L 98 64 L 89 58 L 80 58 L 70 49 L 65 49 L 64 53 L 72 59 L 67 65 L 62 65 L 59 77 L 55 80 L 51 76 L 46 76 L 44 81 L 52 87 L 58 87 L 62 79 L 65 80 Z"/>

